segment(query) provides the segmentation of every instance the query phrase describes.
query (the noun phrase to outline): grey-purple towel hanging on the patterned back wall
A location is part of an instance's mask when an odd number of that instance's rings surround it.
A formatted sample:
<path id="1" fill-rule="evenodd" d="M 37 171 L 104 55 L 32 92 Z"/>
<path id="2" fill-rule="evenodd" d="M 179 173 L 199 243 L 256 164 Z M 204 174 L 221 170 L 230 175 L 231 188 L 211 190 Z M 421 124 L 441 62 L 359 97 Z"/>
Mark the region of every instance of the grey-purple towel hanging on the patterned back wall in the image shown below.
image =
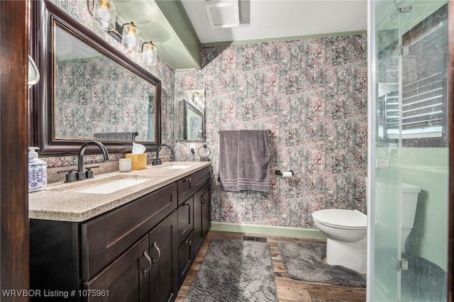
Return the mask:
<path id="1" fill-rule="evenodd" d="M 221 131 L 219 179 L 226 191 L 268 191 L 270 133 L 268 130 Z"/>

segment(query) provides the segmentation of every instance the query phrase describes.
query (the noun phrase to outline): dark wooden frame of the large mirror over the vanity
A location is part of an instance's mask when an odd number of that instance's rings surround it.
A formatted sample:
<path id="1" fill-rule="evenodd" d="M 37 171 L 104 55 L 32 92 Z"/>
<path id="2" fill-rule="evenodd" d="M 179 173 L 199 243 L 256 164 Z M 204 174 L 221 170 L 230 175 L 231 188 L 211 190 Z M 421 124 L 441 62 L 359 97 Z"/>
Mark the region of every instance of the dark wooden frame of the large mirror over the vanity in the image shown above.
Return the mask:
<path id="1" fill-rule="evenodd" d="M 90 139 L 56 139 L 54 121 L 54 95 L 53 95 L 53 71 L 52 62 L 52 23 L 57 21 L 65 26 L 77 38 L 95 50 L 111 58 L 114 62 L 129 69 L 138 77 L 145 79 L 155 86 L 155 132 L 156 141 L 138 141 L 145 145 L 147 151 L 155 151 L 161 143 L 161 82 L 147 69 L 141 67 L 115 47 L 101 39 L 94 32 L 84 27 L 81 23 L 69 16 L 65 11 L 47 0 L 31 1 L 31 56 L 40 71 L 40 82 L 30 89 L 29 112 L 28 112 L 28 145 L 40 148 L 40 154 L 77 154 L 80 147 Z M 131 141 L 99 140 L 109 152 L 131 152 Z"/>

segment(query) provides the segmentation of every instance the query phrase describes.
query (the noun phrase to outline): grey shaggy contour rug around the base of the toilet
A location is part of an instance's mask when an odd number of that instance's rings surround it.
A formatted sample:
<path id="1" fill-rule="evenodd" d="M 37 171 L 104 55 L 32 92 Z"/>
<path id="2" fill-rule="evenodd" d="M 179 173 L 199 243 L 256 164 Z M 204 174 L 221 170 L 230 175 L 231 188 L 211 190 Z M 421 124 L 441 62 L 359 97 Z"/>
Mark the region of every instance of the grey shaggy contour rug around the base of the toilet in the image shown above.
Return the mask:
<path id="1" fill-rule="evenodd" d="M 324 243 L 279 242 L 277 245 L 287 274 L 292 279 L 343 286 L 366 286 L 365 277 L 353 269 L 323 262 L 323 257 L 326 257 Z"/>

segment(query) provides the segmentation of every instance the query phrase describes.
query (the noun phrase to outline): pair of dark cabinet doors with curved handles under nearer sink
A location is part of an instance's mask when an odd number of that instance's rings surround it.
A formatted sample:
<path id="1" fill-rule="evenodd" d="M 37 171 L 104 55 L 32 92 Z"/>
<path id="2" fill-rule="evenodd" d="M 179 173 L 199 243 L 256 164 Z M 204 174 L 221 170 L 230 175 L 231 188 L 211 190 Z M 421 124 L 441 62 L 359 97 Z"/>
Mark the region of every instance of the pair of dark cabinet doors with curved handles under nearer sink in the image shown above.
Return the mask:
<path id="1" fill-rule="evenodd" d="M 82 293 L 94 293 L 93 296 L 87 296 L 87 301 L 175 300 L 177 295 L 175 228 L 177 228 L 176 211 L 99 274 L 84 282 Z"/>

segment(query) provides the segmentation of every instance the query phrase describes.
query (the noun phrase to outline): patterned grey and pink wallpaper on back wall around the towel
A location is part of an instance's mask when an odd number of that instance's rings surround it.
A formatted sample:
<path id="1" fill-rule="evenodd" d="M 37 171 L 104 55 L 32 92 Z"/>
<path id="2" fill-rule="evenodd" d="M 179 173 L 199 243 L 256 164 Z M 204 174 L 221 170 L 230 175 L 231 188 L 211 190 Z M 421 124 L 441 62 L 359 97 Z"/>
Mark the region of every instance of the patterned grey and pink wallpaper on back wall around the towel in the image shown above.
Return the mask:
<path id="1" fill-rule="evenodd" d="M 219 130 L 271 130 L 270 191 L 216 183 L 214 221 L 313 228 L 311 213 L 322 208 L 365 213 L 366 47 L 365 35 L 206 47 L 201 71 L 175 73 L 176 90 L 205 90 L 216 179 Z M 188 142 L 176 149 L 191 158 Z"/>

